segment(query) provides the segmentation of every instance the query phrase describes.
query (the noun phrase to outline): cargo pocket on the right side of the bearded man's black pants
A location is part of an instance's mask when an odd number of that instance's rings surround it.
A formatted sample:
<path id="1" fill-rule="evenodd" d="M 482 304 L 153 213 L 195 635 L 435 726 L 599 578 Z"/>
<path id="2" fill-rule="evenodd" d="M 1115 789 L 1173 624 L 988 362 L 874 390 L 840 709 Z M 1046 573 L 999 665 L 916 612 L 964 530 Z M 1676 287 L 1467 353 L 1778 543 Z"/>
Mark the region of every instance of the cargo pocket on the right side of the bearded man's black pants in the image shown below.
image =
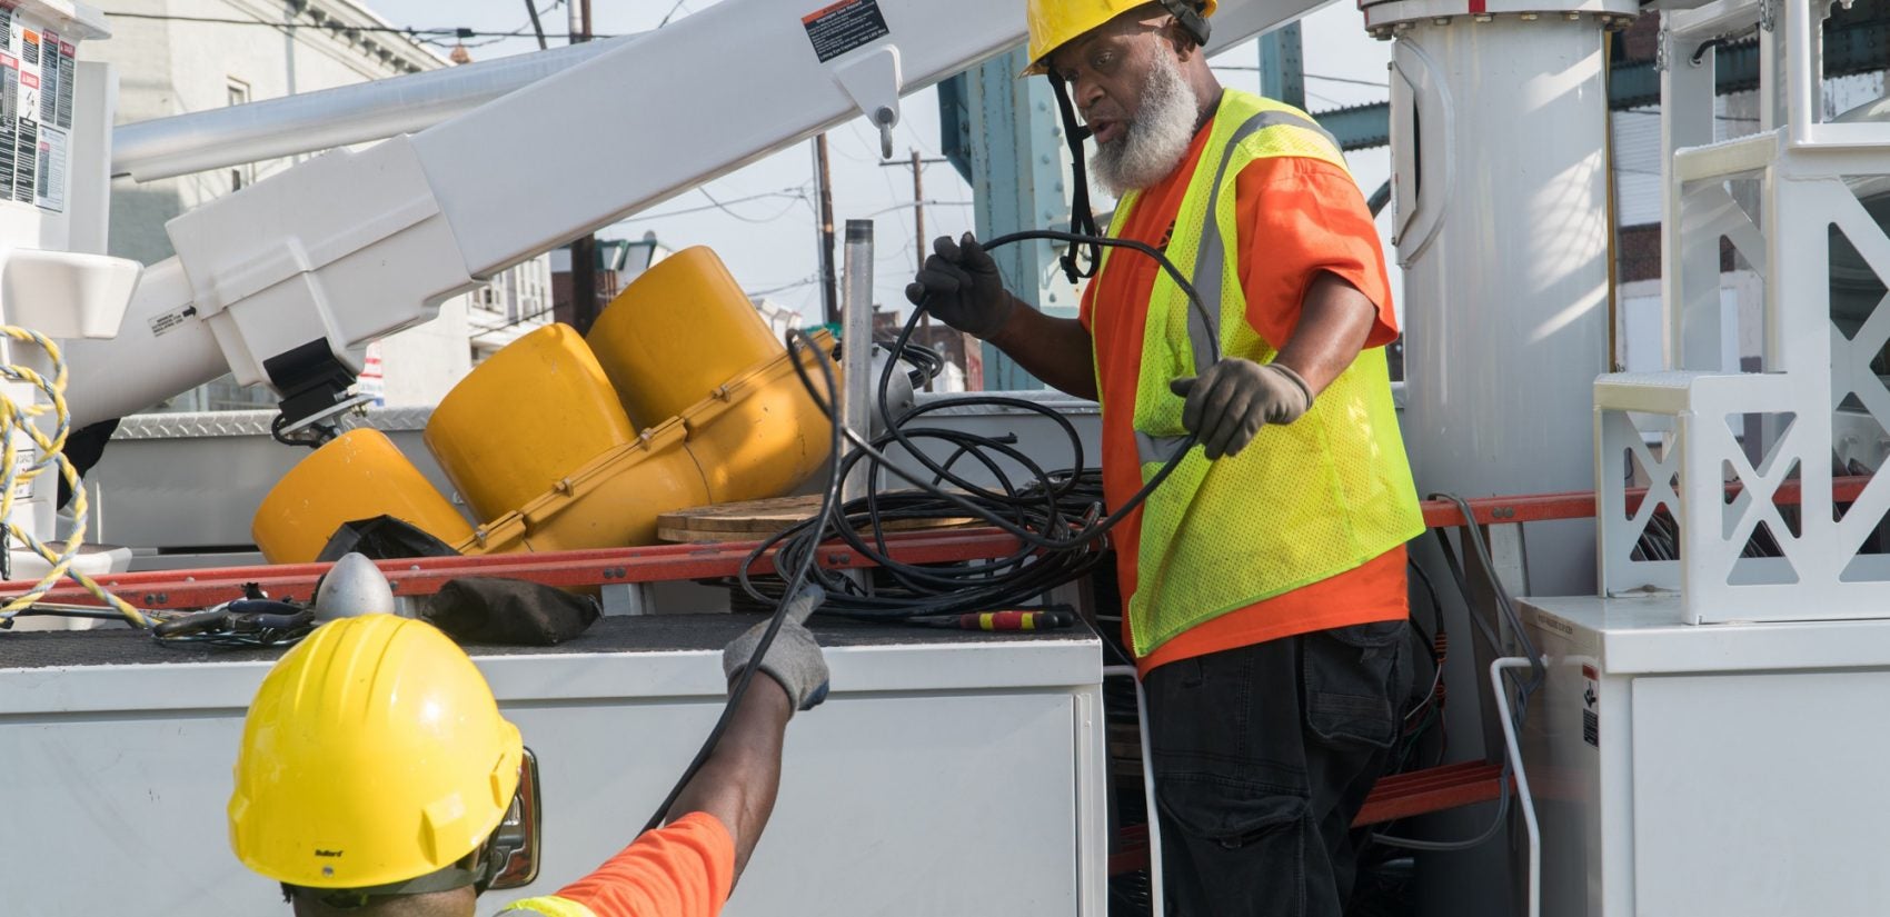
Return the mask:
<path id="1" fill-rule="evenodd" d="M 1306 728 L 1331 745 L 1387 749 L 1399 735 L 1402 620 L 1355 624 L 1302 637 Z"/>

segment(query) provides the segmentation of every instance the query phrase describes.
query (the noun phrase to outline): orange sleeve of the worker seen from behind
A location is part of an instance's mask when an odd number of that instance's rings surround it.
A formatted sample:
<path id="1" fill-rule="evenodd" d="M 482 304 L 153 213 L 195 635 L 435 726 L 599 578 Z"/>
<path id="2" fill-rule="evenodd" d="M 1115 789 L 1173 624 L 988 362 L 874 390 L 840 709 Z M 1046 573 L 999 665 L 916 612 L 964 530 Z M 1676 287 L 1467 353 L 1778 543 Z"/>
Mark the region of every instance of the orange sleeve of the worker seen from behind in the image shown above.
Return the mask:
<path id="1" fill-rule="evenodd" d="M 643 834 L 558 896 L 597 917 L 714 917 L 733 885 L 735 839 L 696 811 Z"/>

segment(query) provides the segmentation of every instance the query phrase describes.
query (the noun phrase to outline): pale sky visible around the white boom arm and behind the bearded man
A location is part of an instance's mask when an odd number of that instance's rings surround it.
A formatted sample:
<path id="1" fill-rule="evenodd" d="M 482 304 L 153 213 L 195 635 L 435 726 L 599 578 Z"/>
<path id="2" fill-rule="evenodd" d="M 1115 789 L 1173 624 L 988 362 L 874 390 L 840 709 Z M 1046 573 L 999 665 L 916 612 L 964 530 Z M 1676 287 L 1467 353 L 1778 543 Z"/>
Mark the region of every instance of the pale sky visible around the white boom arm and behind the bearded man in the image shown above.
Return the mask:
<path id="1" fill-rule="evenodd" d="M 537 51 L 525 0 L 357 0 L 397 26 L 510 32 L 520 38 L 467 40 L 474 61 Z M 569 11 L 563 0 L 539 0 L 548 34 L 563 34 Z M 626 34 L 658 28 L 711 6 L 714 0 L 592 0 L 595 34 Z M 937 0 L 949 2 L 949 0 Z M 1022 2 L 1022 0 L 1019 0 Z M 554 6 L 546 6 L 554 4 Z M 561 42 L 558 38 L 554 43 Z M 1387 98 L 1385 61 L 1391 45 L 1365 34 L 1353 4 L 1332 4 L 1302 23 L 1306 66 L 1306 108 L 1382 102 Z M 444 49 L 442 49 L 444 53 Z M 1259 45 L 1246 42 L 1213 59 L 1227 87 L 1259 91 Z M 909 159 L 917 149 L 939 159 L 937 95 L 924 89 L 905 96 L 903 117 L 894 129 L 894 155 Z M 847 219 L 875 221 L 873 285 L 877 301 L 888 308 L 905 306 L 905 284 L 915 263 L 913 178 L 907 163 L 883 166 L 879 136 L 862 119 L 828 134 L 833 180 L 833 225 Z M 1370 195 L 1389 174 L 1385 149 L 1357 151 L 1348 157 L 1365 193 Z M 820 314 L 818 219 L 815 210 L 811 144 L 798 144 L 771 157 L 722 176 L 699 189 L 673 197 L 635 214 L 616 227 L 599 231 L 603 238 L 643 238 L 656 233 L 671 248 L 709 246 L 750 295 L 798 308 L 807 318 Z M 947 164 L 924 166 L 926 236 L 956 234 L 973 227 L 971 189 Z M 1380 219 L 1380 229 L 1389 217 Z M 837 246 L 839 248 L 839 246 Z M 839 257 L 839 253 L 835 255 Z M 839 270 L 839 265 L 835 265 Z M 1395 274 L 1395 268 L 1393 268 Z M 1397 284 L 1397 276 L 1393 276 Z M 1395 287 L 1397 289 L 1397 287 Z"/>

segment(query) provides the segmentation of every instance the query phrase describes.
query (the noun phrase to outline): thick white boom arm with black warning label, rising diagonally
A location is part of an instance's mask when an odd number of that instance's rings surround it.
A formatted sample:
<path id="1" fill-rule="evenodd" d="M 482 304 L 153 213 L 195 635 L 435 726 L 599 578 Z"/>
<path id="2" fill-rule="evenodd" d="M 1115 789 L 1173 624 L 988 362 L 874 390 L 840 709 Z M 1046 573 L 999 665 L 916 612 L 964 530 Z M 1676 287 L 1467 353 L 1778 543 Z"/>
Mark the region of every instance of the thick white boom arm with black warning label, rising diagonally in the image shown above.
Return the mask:
<path id="1" fill-rule="evenodd" d="M 1223 0 L 1211 47 L 1325 2 Z M 123 333 L 70 350 L 74 422 L 225 371 L 333 403 L 361 348 L 480 278 L 862 112 L 890 127 L 902 95 L 1022 38 L 1021 0 L 724 0 L 418 134 L 302 163 L 166 225 L 178 253 L 147 270 Z M 822 61 L 816 40 L 839 53 Z M 571 142 L 580 119 L 590 136 Z"/>

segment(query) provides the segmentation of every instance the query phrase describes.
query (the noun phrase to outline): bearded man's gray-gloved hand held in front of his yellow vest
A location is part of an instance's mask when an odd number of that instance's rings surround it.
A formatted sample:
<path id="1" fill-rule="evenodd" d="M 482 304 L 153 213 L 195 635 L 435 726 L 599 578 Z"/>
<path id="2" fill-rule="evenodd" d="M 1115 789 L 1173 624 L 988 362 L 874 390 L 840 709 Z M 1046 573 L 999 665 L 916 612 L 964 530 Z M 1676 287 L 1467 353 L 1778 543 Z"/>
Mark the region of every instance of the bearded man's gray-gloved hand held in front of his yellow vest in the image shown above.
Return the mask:
<path id="1" fill-rule="evenodd" d="M 1200 437 L 1208 459 L 1234 456 L 1266 424 L 1293 424 L 1312 407 L 1312 388 L 1280 363 L 1227 357 L 1168 391 L 1187 399 L 1181 425 Z"/>

